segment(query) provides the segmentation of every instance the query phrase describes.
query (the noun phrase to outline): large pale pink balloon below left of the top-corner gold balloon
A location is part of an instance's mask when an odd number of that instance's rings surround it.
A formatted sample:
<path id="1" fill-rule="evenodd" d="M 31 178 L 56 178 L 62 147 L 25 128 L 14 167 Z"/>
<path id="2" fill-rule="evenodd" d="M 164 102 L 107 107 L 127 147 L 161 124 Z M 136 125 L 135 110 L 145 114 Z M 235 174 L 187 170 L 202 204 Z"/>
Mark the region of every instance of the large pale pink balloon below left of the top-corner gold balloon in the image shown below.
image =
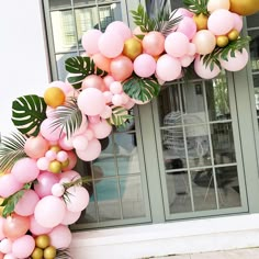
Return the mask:
<path id="1" fill-rule="evenodd" d="M 225 9 L 217 9 L 209 16 L 207 29 L 215 35 L 225 35 L 233 27 L 233 14 Z"/>

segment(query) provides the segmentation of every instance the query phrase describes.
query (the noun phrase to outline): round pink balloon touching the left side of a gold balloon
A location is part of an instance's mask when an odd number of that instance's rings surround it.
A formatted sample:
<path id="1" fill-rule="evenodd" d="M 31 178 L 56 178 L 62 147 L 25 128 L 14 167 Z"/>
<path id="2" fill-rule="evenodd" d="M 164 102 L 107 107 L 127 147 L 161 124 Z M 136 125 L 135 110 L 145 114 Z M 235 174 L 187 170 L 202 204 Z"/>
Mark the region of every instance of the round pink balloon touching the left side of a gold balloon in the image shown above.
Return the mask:
<path id="1" fill-rule="evenodd" d="M 122 54 L 124 41 L 120 34 L 109 32 L 100 36 L 98 47 L 104 57 L 114 58 Z"/>

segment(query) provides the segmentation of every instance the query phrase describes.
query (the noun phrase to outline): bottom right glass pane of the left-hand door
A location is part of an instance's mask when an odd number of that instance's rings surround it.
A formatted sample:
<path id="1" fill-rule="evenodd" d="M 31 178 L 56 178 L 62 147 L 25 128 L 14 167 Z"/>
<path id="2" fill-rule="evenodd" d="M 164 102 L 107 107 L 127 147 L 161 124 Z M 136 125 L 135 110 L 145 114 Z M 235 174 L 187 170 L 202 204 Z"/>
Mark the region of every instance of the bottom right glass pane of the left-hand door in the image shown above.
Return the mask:
<path id="1" fill-rule="evenodd" d="M 145 204 L 140 177 L 120 179 L 123 218 L 145 216 Z"/>

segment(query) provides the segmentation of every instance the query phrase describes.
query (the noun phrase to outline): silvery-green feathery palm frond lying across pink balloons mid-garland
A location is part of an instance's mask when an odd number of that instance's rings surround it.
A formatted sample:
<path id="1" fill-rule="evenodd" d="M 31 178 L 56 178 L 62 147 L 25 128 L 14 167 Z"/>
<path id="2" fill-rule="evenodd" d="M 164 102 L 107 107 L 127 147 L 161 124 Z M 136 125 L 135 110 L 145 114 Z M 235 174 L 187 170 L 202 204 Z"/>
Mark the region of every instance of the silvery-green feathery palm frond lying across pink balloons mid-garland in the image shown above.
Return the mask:
<path id="1" fill-rule="evenodd" d="M 60 128 L 66 132 L 67 136 L 70 137 L 82 124 L 82 113 L 77 105 L 75 98 L 68 100 L 64 105 L 58 106 L 50 114 L 54 117 L 52 127 L 53 131 Z"/>

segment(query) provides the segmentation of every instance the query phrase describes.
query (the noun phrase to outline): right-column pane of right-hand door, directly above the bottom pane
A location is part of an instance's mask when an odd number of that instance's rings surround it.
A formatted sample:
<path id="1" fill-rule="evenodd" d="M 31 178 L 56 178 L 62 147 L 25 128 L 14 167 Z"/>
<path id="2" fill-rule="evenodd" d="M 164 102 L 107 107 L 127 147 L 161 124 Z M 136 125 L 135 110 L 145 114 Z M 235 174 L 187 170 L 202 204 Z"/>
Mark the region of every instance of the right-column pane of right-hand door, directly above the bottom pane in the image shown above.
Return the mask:
<path id="1" fill-rule="evenodd" d="M 215 165 L 236 162 L 232 123 L 211 125 Z"/>

